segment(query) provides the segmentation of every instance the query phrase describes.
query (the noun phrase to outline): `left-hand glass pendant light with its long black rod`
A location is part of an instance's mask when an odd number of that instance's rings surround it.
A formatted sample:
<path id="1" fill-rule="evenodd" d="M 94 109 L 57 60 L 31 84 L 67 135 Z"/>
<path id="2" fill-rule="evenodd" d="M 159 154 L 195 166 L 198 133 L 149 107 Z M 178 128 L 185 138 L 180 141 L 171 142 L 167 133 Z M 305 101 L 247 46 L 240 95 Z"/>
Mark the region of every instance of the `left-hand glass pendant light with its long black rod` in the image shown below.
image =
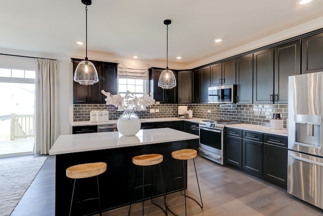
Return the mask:
<path id="1" fill-rule="evenodd" d="M 74 73 L 74 81 L 79 82 L 81 85 L 92 85 L 99 81 L 99 77 L 97 75 L 97 71 L 95 69 L 95 66 L 92 62 L 88 61 L 87 58 L 87 6 L 92 4 L 91 0 L 81 0 L 81 2 L 85 5 L 85 16 L 86 16 L 86 56 L 85 60 L 81 61 L 75 70 Z"/>

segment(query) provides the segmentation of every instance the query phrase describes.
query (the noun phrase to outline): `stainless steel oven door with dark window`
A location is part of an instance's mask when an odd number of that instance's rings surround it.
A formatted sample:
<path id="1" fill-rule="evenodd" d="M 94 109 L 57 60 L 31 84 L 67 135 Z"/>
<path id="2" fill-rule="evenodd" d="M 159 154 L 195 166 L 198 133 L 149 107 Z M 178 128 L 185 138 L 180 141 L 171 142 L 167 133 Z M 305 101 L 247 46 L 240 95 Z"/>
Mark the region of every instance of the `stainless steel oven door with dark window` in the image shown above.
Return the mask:
<path id="1" fill-rule="evenodd" d="M 200 126 L 200 146 L 223 156 L 223 131 Z"/>

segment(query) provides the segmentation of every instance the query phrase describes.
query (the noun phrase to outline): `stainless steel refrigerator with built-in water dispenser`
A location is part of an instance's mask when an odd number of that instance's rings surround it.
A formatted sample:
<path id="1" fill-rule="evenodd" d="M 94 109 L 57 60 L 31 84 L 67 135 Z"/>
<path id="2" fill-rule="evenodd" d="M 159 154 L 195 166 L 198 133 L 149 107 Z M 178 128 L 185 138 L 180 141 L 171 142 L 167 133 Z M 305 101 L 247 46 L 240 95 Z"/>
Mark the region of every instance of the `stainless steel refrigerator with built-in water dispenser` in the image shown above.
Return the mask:
<path id="1" fill-rule="evenodd" d="M 323 208 L 323 72 L 288 80 L 288 193 Z"/>

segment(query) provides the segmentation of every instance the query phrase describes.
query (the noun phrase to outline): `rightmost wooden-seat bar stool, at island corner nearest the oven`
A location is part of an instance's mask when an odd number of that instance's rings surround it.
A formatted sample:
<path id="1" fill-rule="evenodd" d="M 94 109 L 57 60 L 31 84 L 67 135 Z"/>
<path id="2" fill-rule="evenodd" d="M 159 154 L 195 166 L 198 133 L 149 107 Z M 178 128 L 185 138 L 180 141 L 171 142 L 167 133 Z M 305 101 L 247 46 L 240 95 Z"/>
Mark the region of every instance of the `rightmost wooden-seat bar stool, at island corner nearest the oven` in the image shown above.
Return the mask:
<path id="1" fill-rule="evenodd" d="M 177 151 L 173 151 L 172 152 L 172 157 L 174 159 L 177 160 L 182 160 L 183 161 L 183 175 L 181 177 L 177 177 L 173 180 L 171 180 L 170 182 L 177 180 L 177 179 L 181 179 L 182 183 L 184 182 L 184 194 L 182 194 L 182 189 L 181 189 L 181 194 L 184 196 L 185 199 L 185 215 L 187 215 L 187 209 L 186 209 L 186 197 L 194 200 L 201 208 L 203 208 L 203 202 L 202 202 L 202 196 L 201 196 L 201 191 L 200 191 L 200 186 L 198 184 L 198 179 L 197 179 L 197 172 L 196 172 L 196 167 L 195 167 L 195 161 L 194 158 L 197 156 L 197 151 L 194 149 L 181 149 L 181 150 L 177 150 Z M 183 180 L 185 178 L 185 160 L 189 160 L 189 159 L 193 159 L 193 163 L 194 163 L 194 169 L 195 169 L 195 175 L 196 175 L 196 181 L 197 181 L 197 186 L 198 186 L 198 192 L 200 194 L 200 198 L 201 198 L 201 204 L 196 201 L 193 197 L 187 196 L 186 195 L 186 184 L 185 184 L 185 180 Z M 182 187 L 181 187 L 182 188 Z M 167 196 L 167 191 L 166 191 L 166 196 Z M 166 197 L 165 197 L 166 200 Z M 168 207 L 167 207 L 168 208 Z M 168 208 L 169 209 L 169 208 Z M 171 209 L 169 209 L 174 215 L 176 215 Z"/>

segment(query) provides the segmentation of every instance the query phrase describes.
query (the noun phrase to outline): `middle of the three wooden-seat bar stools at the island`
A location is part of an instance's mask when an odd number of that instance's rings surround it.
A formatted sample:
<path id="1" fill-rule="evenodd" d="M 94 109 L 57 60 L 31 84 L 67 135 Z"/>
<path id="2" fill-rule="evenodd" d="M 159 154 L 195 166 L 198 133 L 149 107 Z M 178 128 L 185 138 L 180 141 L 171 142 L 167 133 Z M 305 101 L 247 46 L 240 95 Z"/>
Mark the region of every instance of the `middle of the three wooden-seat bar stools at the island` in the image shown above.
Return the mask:
<path id="1" fill-rule="evenodd" d="M 135 182 L 136 182 L 136 177 L 134 179 L 134 189 L 141 188 L 142 187 L 142 215 L 144 213 L 144 194 L 145 194 L 145 186 L 152 185 L 151 184 L 146 184 L 145 185 L 145 166 L 152 166 L 152 165 L 159 165 L 159 172 L 160 172 L 160 179 L 161 179 L 161 187 L 163 188 L 163 196 L 164 196 L 164 203 L 165 203 L 165 210 L 163 207 L 160 205 L 154 203 L 152 201 L 152 195 L 150 197 L 152 204 L 158 206 L 161 210 L 164 211 L 164 213 L 167 215 L 167 208 L 166 208 L 166 202 L 165 202 L 165 191 L 164 191 L 164 183 L 163 183 L 163 176 L 161 175 L 161 168 L 160 168 L 160 163 L 163 161 L 163 155 L 161 154 L 143 154 L 139 156 L 135 156 L 132 158 L 132 163 L 138 166 L 142 166 L 142 185 L 135 187 Z M 152 178 L 151 178 L 152 181 Z M 133 194 L 133 192 L 132 192 Z M 132 195 L 133 196 L 133 195 Z M 131 210 L 131 204 L 133 201 L 130 202 L 130 208 L 129 208 L 129 215 L 130 215 L 130 210 Z"/>

